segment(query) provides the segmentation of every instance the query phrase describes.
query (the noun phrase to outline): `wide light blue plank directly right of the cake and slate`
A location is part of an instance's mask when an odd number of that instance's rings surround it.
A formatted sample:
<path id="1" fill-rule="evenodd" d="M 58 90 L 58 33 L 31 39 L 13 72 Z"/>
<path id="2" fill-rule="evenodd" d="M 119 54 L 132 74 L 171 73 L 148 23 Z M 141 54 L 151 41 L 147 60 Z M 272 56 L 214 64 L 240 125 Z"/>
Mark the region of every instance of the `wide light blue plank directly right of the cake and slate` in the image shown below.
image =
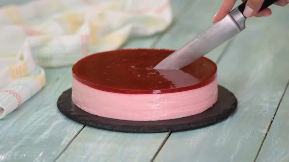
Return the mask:
<path id="1" fill-rule="evenodd" d="M 272 8 L 271 17 L 247 20 L 218 64 L 219 83 L 238 98 L 237 112 L 210 127 L 172 133 L 156 162 L 254 161 L 289 80 L 289 12 Z"/>

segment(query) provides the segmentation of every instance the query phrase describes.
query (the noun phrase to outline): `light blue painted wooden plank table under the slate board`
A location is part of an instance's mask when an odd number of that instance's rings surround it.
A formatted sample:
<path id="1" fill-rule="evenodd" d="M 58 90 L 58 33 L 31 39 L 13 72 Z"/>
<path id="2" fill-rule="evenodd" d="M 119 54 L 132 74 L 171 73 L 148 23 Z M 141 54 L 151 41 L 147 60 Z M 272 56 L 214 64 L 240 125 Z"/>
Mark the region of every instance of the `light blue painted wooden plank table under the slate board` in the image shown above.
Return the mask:
<path id="1" fill-rule="evenodd" d="M 172 0 L 164 33 L 122 48 L 177 49 L 211 25 L 221 0 Z M 208 5 L 209 4 L 209 5 Z M 288 162 L 289 8 L 251 18 L 247 28 L 208 58 L 219 84 L 238 98 L 236 113 L 216 125 L 155 134 L 119 133 L 71 121 L 57 109 L 71 68 L 47 68 L 47 85 L 0 121 L 0 162 Z"/>

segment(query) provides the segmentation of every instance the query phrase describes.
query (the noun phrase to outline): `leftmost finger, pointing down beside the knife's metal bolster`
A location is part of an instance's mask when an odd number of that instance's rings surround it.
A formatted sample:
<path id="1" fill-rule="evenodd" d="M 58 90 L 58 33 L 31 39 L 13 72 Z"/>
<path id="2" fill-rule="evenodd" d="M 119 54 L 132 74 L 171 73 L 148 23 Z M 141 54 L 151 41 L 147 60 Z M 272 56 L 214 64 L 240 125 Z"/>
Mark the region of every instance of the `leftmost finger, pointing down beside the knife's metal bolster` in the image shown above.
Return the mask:
<path id="1" fill-rule="evenodd" d="M 223 0 L 221 7 L 213 19 L 213 23 L 222 20 L 233 8 L 236 0 Z"/>

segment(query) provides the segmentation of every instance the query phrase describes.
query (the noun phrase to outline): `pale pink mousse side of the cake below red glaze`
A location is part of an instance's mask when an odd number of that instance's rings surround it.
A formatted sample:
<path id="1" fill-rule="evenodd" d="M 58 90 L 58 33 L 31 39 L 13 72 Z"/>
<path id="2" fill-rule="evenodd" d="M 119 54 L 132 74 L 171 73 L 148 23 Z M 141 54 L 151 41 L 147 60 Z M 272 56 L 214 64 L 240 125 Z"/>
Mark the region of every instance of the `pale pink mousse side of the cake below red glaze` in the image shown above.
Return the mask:
<path id="1" fill-rule="evenodd" d="M 101 117 L 159 121 L 199 114 L 217 101 L 217 77 L 206 86 L 164 94 L 121 94 L 87 86 L 72 78 L 72 101 Z"/>

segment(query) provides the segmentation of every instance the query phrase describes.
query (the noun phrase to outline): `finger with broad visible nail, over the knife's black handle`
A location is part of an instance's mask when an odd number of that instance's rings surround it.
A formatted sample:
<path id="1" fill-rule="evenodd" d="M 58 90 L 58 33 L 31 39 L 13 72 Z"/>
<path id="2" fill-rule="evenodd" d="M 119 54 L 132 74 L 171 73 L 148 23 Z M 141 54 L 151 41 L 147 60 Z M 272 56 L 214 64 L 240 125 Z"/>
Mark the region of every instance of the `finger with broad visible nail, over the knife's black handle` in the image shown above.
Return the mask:
<path id="1" fill-rule="evenodd" d="M 264 0 L 248 0 L 243 15 L 250 18 L 258 13 Z"/>

